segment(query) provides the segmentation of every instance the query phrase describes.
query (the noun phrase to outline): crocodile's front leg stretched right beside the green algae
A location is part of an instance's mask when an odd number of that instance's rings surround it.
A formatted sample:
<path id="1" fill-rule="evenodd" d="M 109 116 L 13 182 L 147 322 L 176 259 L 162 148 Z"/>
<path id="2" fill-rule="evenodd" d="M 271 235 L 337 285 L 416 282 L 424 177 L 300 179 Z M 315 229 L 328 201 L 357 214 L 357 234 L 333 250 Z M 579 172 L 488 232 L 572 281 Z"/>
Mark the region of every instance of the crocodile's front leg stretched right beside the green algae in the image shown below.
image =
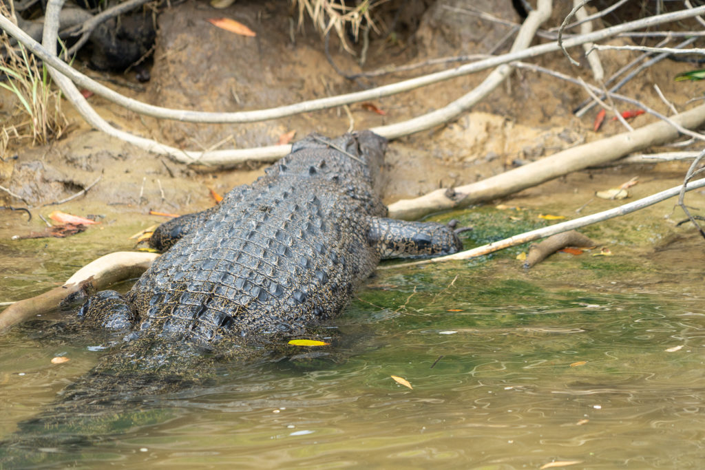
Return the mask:
<path id="1" fill-rule="evenodd" d="M 367 240 L 381 259 L 439 256 L 462 249 L 458 235 L 448 225 L 436 222 L 372 217 Z"/>

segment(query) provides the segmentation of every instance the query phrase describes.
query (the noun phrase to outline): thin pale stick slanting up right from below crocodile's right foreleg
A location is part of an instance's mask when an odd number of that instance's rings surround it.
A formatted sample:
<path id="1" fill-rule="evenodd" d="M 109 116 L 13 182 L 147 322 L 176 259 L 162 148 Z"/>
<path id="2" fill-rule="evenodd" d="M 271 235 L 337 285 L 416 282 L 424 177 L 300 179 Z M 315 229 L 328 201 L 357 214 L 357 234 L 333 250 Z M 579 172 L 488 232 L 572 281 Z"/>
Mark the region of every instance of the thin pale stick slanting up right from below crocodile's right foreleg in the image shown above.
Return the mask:
<path id="1" fill-rule="evenodd" d="M 678 196 L 681 192 L 696 190 L 699 187 L 705 186 L 705 178 L 700 180 L 695 180 L 689 183 L 687 186 L 680 185 L 672 187 L 668 190 L 658 192 L 656 194 L 651 194 L 649 197 L 644 197 L 638 199 L 635 202 L 630 202 L 629 204 L 624 204 L 623 206 L 615 207 L 613 209 L 608 209 L 607 211 L 598 212 L 597 214 L 591 214 L 589 216 L 584 216 L 576 218 L 572 221 L 566 221 L 562 223 L 556 223 L 544 228 L 539 228 L 537 230 L 531 230 L 530 232 L 521 233 L 520 235 L 514 235 L 513 237 L 505 238 L 498 242 L 492 242 L 487 245 L 482 245 L 482 247 L 477 247 L 473 249 L 467 249 L 464 252 L 459 252 L 455 254 L 450 254 L 448 256 L 441 256 L 439 258 L 424 259 L 422 261 L 415 261 L 412 263 L 403 264 L 393 264 L 390 266 L 380 266 L 378 269 L 393 269 L 407 266 L 419 266 L 422 264 L 431 263 L 442 263 L 443 261 L 458 261 L 460 259 L 470 259 L 477 256 L 482 256 L 484 254 L 494 253 L 500 249 L 505 249 L 508 247 L 514 247 L 516 245 L 521 245 L 526 242 L 533 242 L 534 240 L 539 240 L 539 238 L 548 237 L 550 235 L 555 235 L 556 233 L 567 232 L 568 230 L 575 230 L 576 228 L 584 227 L 586 225 L 591 225 L 593 223 L 606 221 L 610 218 L 623 216 L 625 214 L 630 214 L 632 212 L 638 211 L 639 209 L 644 209 L 644 207 L 651 206 L 657 202 L 665 201 L 670 197 Z"/>

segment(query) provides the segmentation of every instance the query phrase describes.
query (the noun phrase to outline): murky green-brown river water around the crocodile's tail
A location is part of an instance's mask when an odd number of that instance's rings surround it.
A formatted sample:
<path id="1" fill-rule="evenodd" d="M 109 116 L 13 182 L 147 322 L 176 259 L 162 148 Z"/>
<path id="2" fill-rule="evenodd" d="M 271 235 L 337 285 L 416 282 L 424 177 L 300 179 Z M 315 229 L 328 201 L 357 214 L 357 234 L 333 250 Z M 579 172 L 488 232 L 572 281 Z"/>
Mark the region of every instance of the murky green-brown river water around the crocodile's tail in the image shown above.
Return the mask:
<path id="1" fill-rule="evenodd" d="M 631 253 L 517 264 L 378 271 L 337 323 L 338 362 L 235 364 L 212 386 L 135 403 L 118 433 L 59 449 L 54 465 L 699 468 L 702 270 Z M 34 328 L 0 337 L 3 436 L 100 354 Z M 71 361 L 50 364 L 60 354 Z"/>

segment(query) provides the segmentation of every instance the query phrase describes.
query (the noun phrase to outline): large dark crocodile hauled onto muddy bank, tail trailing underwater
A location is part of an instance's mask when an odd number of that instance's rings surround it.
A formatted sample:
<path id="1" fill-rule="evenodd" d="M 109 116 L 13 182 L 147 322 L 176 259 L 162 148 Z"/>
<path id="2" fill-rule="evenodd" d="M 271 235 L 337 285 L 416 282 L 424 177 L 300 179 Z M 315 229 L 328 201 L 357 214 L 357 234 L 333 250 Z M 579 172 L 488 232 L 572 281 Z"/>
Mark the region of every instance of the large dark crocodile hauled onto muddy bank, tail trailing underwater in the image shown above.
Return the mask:
<path id="1" fill-rule="evenodd" d="M 100 416 L 207 380 L 214 361 L 259 358 L 288 338 L 325 335 L 381 259 L 457 252 L 462 244 L 448 225 L 386 218 L 385 151 L 384 137 L 369 131 L 312 134 L 255 183 L 160 225 L 150 243 L 164 254 L 125 295 L 97 292 L 78 313 L 81 328 L 110 331 L 118 345 L 22 423 L 21 433 L 35 438 L 16 446 L 75 443 L 85 428 L 107 432 L 113 425 Z"/>

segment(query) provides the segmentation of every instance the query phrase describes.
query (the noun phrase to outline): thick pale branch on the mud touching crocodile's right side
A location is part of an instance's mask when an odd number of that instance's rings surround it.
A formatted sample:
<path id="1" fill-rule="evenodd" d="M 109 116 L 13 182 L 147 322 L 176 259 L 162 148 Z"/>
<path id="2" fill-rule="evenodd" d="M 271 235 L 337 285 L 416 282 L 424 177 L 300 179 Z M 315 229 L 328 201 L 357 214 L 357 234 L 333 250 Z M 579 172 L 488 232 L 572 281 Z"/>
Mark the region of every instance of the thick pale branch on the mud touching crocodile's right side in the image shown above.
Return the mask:
<path id="1" fill-rule="evenodd" d="M 705 123 L 705 104 L 670 118 L 694 129 Z M 514 194 L 559 176 L 618 159 L 634 151 L 663 144 L 678 137 L 666 122 L 645 125 L 633 132 L 578 145 L 500 175 L 452 190 L 436 190 L 416 199 L 402 199 L 389 206 L 389 216 L 412 220 L 431 212 L 458 209 Z"/>

